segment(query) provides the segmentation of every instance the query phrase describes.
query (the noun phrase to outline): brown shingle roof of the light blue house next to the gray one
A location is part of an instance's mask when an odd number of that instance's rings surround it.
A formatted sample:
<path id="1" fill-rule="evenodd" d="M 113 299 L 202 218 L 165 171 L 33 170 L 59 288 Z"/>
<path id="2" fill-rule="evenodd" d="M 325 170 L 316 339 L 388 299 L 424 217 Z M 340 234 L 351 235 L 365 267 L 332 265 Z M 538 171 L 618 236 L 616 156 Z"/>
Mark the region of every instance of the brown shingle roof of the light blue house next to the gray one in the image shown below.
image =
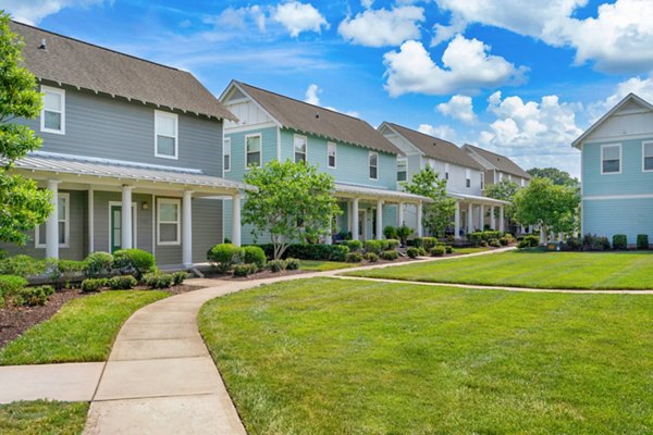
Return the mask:
<path id="1" fill-rule="evenodd" d="M 235 82 L 235 84 L 284 127 L 392 154 L 403 154 L 402 150 L 392 145 L 374 127 L 358 117 L 284 97 L 241 82 Z"/>

